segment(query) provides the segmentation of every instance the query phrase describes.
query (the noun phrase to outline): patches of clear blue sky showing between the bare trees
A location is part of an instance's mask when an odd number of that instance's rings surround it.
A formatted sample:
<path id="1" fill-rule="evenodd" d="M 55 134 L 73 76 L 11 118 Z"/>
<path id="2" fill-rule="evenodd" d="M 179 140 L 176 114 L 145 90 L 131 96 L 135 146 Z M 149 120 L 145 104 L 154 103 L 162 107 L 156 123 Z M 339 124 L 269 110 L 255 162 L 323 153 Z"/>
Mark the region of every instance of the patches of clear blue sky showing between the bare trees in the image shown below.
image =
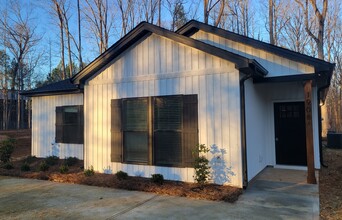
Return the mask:
<path id="1" fill-rule="evenodd" d="M 0 0 L 2 4 L 0 4 L 0 8 L 6 8 L 11 0 Z M 41 62 L 40 66 L 36 69 L 36 73 L 39 77 L 45 78 L 47 73 L 50 71 L 50 58 L 51 58 L 51 67 L 54 68 L 57 66 L 57 64 L 60 62 L 60 43 L 59 43 L 59 28 L 57 26 L 56 18 L 53 18 L 50 11 L 50 1 L 49 0 L 18 0 L 20 4 L 23 6 L 24 12 L 25 11 L 32 11 L 30 13 L 30 17 L 32 18 L 32 26 L 36 26 L 36 34 L 38 36 L 42 36 L 42 41 L 37 46 L 38 51 L 44 52 L 44 60 Z M 76 0 L 75 5 L 76 5 Z M 190 4 L 191 0 L 188 0 L 188 4 Z M 260 1 L 262 4 L 256 4 L 256 2 Z M 115 0 L 109 0 L 109 2 L 115 2 Z M 196 0 L 194 0 L 196 2 Z M 197 15 L 195 16 L 196 19 L 202 21 L 203 20 L 203 6 L 202 6 L 202 0 L 198 1 L 199 4 L 195 4 L 197 8 Z M 267 4 L 266 0 L 251 0 L 251 2 L 255 5 L 255 7 L 262 7 L 263 4 Z M 259 3 L 260 3 L 259 2 Z M 261 5 L 261 6 L 260 6 Z M 195 10 L 195 6 L 193 6 L 191 9 Z M 187 7 L 187 6 L 186 6 Z M 185 7 L 185 8 L 186 8 Z M 189 6 L 188 6 L 189 7 Z M 255 9 L 256 12 L 260 14 L 259 9 Z M 75 8 L 70 8 L 73 13 L 70 15 L 70 29 L 71 33 L 75 35 L 75 38 L 77 38 L 77 12 Z M 163 8 L 162 13 L 162 20 L 164 22 L 170 21 L 169 13 L 167 12 L 166 8 Z M 255 14 L 254 16 L 255 22 L 257 23 L 257 29 L 256 33 L 257 36 L 261 36 L 261 39 L 265 38 L 263 36 L 265 35 L 265 30 L 261 29 L 260 27 L 263 27 L 264 17 L 260 16 L 258 14 Z M 260 24 L 259 24 L 260 23 Z M 94 44 L 94 41 L 92 41 L 86 33 L 86 30 L 84 26 L 86 25 L 85 21 L 82 20 L 82 49 L 83 49 L 83 61 L 86 63 L 91 62 L 95 57 L 98 56 L 98 49 L 97 46 Z M 114 26 L 117 24 L 114 24 Z M 120 29 L 121 30 L 121 29 Z M 120 37 L 120 30 L 114 29 L 111 32 L 111 36 L 109 38 L 109 46 L 115 43 L 119 37 Z M 267 39 L 263 39 L 267 40 Z M 51 56 L 50 56 L 50 48 L 51 48 Z M 76 50 L 75 50 L 76 51 Z M 77 63 L 76 57 L 74 57 L 75 62 Z"/>

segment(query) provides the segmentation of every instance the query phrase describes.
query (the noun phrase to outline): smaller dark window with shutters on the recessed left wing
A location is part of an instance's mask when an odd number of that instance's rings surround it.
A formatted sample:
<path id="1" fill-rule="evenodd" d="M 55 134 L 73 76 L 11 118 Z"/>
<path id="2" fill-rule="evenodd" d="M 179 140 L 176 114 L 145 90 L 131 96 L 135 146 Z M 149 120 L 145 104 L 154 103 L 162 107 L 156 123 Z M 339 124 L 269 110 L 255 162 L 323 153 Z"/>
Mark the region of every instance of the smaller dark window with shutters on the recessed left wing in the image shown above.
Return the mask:
<path id="1" fill-rule="evenodd" d="M 56 107 L 56 142 L 83 144 L 83 106 Z"/>

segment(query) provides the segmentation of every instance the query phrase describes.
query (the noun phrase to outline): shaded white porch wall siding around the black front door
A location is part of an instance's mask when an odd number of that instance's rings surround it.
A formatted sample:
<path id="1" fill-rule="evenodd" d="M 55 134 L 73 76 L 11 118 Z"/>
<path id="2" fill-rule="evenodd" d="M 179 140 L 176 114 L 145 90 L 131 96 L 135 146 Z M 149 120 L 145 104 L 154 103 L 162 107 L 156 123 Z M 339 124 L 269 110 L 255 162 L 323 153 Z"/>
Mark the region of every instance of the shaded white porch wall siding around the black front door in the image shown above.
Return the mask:
<path id="1" fill-rule="evenodd" d="M 245 82 L 248 180 L 267 165 L 277 166 L 275 158 L 274 103 L 304 102 L 301 82 L 253 84 Z M 312 92 L 312 123 L 315 168 L 320 168 L 317 88 Z"/>

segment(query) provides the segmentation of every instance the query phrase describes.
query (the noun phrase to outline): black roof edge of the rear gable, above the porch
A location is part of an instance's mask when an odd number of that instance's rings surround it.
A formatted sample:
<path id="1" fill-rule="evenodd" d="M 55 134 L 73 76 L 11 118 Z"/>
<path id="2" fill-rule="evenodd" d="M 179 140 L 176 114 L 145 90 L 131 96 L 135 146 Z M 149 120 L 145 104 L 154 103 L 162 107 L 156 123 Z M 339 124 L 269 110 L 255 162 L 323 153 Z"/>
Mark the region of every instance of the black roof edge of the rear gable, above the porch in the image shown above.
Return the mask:
<path id="1" fill-rule="evenodd" d="M 191 20 L 182 27 L 180 27 L 176 33 L 182 34 L 184 36 L 191 36 L 197 31 L 202 30 L 208 33 L 212 33 L 215 35 L 218 35 L 220 37 L 226 38 L 228 40 L 232 40 L 235 42 L 239 42 L 242 44 L 250 45 L 254 48 L 258 48 L 260 50 L 264 50 L 273 54 L 276 54 L 278 56 L 287 58 L 289 60 L 293 60 L 296 62 L 305 63 L 308 65 L 311 65 L 315 68 L 315 72 L 330 72 L 332 74 L 332 71 L 335 67 L 334 64 L 326 62 L 321 59 L 317 59 L 305 54 L 301 54 L 283 47 L 278 47 L 269 43 L 265 43 L 250 37 L 246 37 L 243 35 L 239 35 L 221 28 L 217 28 L 199 21 Z"/>

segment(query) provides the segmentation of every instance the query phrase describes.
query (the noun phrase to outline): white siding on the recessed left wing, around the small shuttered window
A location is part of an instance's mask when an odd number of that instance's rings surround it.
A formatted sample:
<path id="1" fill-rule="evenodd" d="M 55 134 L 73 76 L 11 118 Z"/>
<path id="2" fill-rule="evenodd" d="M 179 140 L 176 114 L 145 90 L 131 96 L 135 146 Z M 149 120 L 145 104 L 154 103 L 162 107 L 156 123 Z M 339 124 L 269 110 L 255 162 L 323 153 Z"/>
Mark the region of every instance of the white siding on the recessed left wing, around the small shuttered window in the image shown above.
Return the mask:
<path id="1" fill-rule="evenodd" d="M 83 144 L 55 143 L 56 106 L 83 105 L 83 94 L 32 97 L 32 155 L 83 159 Z"/>

